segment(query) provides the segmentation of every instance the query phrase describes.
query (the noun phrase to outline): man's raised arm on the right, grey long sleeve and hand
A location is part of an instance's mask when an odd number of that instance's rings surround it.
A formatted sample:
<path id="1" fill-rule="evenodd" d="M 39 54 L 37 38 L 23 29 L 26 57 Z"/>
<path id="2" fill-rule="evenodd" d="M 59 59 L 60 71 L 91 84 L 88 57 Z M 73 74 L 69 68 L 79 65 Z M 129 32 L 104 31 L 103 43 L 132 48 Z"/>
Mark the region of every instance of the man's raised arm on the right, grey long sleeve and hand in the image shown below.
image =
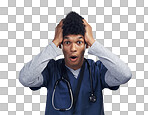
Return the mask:
<path id="1" fill-rule="evenodd" d="M 105 74 L 105 82 L 109 86 L 118 86 L 126 83 L 132 76 L 129 67 L 116 55 L 95 41 L 91 26 L 85 20 L 83 22 L 86 29 L 85 41 L 90 46 L 88 53 L 97 56 L 108 69 Z"/>

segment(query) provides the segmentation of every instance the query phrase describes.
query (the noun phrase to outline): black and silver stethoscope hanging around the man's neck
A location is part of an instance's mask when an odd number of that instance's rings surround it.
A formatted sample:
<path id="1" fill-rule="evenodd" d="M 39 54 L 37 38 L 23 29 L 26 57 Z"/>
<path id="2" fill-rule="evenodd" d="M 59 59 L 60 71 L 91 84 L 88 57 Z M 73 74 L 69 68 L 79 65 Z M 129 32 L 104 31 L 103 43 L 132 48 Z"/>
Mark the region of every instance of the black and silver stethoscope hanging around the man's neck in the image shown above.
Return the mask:
<path id="1" fill-rule="evenodd" d="M 87 62 L 87 65 L 88 65 L 88 70 L 89 70 L 89 77 L 90 77 L 90 86 L 91 86 L 91 94 L 89 96 L 89 101 L 90 102 L 93 102 L 95 103 L 97 98 L 96 96 L 94 95 L 94 90 L 93 90 L 93 80 L 92 80 L 92 76 L 91 76 L 91 69 L 90 69 L 90 65 L 89 65 L 89 62 L 87 59 L 84 58 L 84 60 Z M 85 62 L 84 62 L 85 63 Z M 84 68 L 83 68 L 84 69 Z M 67 84 L 67 87 L 68 87 L 68 90 L 69 90 L 69 94 L 70 94 L 70 99 L 71 99 L 71 104 L 68 108 L 57 108 L 55 107 L 55 104 L 54 104 L 54 96 L 55 96 L 55 91 L 56 91 L 56 87 L 58 86 L 59 82 L 65 82 Z M 58 79 L 55 84 L 54 84 L 54 90 L 53 90 L 53 93 L 52 93 L 52 106 L 55 110 L 57 111 L 68 111 L 72 108 L 73 106 L 73 103 L 74 103 L 74 98 L 73 98 L 73 94 L 72 94 L 72 88 L 71 88 L 71 84 L 69 82 L 68 79 L 66 79 L 63 75 L 60 79 Z"/>

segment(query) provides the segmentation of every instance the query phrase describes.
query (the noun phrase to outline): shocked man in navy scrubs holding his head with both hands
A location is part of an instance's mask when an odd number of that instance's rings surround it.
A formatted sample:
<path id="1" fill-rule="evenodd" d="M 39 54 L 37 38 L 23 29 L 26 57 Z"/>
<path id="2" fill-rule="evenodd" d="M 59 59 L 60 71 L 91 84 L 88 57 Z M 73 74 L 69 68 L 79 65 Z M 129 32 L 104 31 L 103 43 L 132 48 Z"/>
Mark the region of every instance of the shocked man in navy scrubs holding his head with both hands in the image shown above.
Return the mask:
<path id="1" fill-rule="evenodd" d="M 64 59 L 54 60 L 62 47 Z M 84 58 L 85 49 L 100 60 Z M 102 90 L 117 90 L 132 74 L 128 66 L 93 38 L 92 28 L 70 12 L 55 30 L 53 41 L 20 71 L 32 90 L 47 88 L 45 115 L 104 115 Z"/>

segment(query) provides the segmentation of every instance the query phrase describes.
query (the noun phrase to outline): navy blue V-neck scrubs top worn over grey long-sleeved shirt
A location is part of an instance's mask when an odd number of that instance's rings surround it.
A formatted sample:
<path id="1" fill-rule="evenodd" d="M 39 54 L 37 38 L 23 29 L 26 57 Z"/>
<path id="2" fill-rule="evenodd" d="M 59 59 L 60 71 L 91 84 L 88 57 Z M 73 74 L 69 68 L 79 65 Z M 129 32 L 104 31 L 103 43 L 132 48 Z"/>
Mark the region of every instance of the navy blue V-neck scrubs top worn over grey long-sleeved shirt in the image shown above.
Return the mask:
<path id="1" fill-rule="evenodd" d="M 47 100 L 46 100 L 46 110 L 45 115 L 104 115 L 103 108 L 103 95 L 102 90 L 104 88 L 109 88 L 111 90 L 117 90 L 119 86 L 109 87 L 105 82 L 105 73 L 107 68 L 103 63 L 98 60 L 94 62 L 91 59 L 87 59 L 90 64 L 91 75 L 93 79 L 93 89 L 94 94 L 97 97 L 97 101 L 92 103 L 89 101 L 89 96 L 91 92 L 90 77 L 87 62 L 85 62 L 84 77 L 81 83 L 78 99 L 76 102 L 76 107 L 72 107 L 68 111 L 57 111 L 52 106 L 52 93 L 54 90 L 55 82 L 61 78 L 61 64 L 63 59 L 50 60 L 45 69 L 42 72 L 43 75 L 43 85 L 40 87 L 30 87 L 32 90 L 40 89 L 41 87 L 47 88 Z M 72 72 L 67 69 L 67 75 L 69 82 L 72 87 L 73 93 L 75 92 L 78 79 L 76 79 Z M 74 95 L 74 94 L 73 94 Z M 71 104 L 70 94 L 66 83 L 60 82 L 56 88 L 54 96 L 54 105 L 57 108 L 68 108 Z"/>

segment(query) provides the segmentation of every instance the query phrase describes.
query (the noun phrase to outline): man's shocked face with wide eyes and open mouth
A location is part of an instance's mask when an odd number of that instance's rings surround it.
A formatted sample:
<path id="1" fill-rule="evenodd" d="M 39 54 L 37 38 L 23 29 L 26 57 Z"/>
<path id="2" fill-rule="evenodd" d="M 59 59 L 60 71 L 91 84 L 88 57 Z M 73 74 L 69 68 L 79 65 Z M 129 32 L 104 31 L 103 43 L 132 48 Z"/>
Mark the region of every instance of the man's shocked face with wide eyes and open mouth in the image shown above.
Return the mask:
<path id="1" fill-rule="evenodd" d="M 85 41 L 82 35 L 67 35 L 63 39 L 63 54 L 65 64 L 76 70 L 79 69 L 84 60 Z"/>

